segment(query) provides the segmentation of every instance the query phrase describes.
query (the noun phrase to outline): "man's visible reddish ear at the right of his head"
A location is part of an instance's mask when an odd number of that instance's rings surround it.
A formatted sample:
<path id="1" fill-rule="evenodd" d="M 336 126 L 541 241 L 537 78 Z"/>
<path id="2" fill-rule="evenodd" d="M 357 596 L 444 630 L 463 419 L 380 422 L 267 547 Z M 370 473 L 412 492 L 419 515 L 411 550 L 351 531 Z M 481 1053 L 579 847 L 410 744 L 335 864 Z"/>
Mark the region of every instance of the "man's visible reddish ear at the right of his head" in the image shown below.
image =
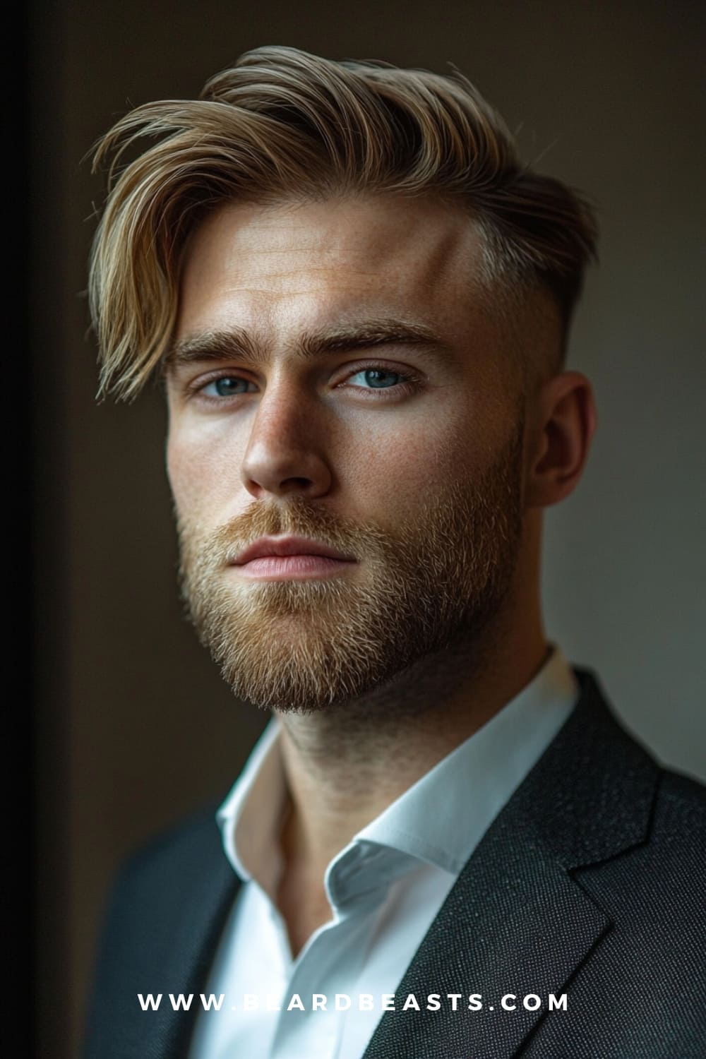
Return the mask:
<path id="1" fill-rule="evenodd" d="M 573 491 L 597 421 L 593 387 L 585 375 L 562 372 L 542 384 L 527 451 L 526 507 L 548 507 Z"/>

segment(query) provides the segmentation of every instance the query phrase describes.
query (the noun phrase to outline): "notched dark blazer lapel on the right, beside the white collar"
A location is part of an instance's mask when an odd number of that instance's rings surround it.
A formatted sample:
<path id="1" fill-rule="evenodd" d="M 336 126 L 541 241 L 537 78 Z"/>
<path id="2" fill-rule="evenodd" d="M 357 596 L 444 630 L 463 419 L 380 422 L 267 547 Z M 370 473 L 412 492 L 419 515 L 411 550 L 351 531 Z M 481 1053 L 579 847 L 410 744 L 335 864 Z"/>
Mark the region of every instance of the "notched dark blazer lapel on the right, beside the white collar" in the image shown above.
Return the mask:
<path id="1" fill-rule="evenodd" d="M 573 870 L 642 841 L 656 766 L 613 719 L 593 676 L 575 672 L 576 708 L 466 864 L 364 1059 L 509 1059 L 610 931 Z M 421 1011 L 399 1009 L 410 993 Z M 440 1010 L 424 1010 L 429 993 L 440 994 Z M 456 1011 L 449 993 L 461 993 Z M 471 993 L 482 994 L 481 1010 L 468 1010 Z M 501 1006 L 508 993 L 515 1010 Z M 527 994 L 541 1006 L 525 1008 Z"/>

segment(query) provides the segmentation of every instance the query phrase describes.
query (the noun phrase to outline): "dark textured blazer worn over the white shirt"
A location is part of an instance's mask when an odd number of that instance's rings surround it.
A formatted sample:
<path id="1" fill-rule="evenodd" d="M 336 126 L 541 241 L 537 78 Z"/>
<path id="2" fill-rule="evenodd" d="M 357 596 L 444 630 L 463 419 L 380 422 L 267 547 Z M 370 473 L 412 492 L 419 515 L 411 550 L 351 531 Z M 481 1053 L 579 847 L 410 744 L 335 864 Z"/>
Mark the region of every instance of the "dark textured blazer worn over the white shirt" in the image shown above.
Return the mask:
<path id="1" fill-rule="evenodd" d="M 385 1011 L 364 1059 L 705 1059 L 706 791 L 659 768 L 595 676 L 574 671 L 576 708 L 396 989 L 481 993 L 483 1008 Z M 132 859 L 108 912 L 85 1059 L 186 1056 L 197 1005 L 143 1011 L 138 993 L 204 991 L 237 890 L 212 812 Z M 514 1011 L 501 1008 L 507 993 Z M 566 1010 L 549 1011 L 549 993 Z M 541 1007 L 526 1009 L 527 994 Z"/>

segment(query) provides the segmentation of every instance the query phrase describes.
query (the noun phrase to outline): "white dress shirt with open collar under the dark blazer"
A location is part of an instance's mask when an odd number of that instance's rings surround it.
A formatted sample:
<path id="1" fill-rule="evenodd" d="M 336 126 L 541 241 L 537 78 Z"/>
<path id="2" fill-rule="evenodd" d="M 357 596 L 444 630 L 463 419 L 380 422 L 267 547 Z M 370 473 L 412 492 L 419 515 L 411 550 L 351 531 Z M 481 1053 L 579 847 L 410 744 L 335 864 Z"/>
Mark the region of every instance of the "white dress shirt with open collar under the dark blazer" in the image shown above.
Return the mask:
<path id="1" fill-rule="evenodd" d="M 555 646 L 511 702 L 333 858 L 324 877 L 331 918 L 295 959 L 270 896 L 288 805 L 273 719 L 217 813 L 242 886 L 203 994 L 216 1002 L 222 994 L 220 1010 L 203 1010 L 195 998 L 189 1059 L 360 1059 L 385 1005 L 401 1009 L 406 998 L 390 994 L 464 864 L 577 698 L 576 678 Z M 459 982 L 456 991 L 468 985 Z"/>

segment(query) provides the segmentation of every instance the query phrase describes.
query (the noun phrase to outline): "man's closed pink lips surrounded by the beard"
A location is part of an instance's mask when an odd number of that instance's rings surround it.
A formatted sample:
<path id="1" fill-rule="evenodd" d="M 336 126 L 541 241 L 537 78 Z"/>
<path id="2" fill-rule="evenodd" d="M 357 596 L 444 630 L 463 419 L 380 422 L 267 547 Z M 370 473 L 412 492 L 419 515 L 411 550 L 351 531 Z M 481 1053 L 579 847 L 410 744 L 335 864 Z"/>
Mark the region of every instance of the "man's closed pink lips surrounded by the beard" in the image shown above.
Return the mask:
<path id="1" fill-rule="evenodd" d="M 342 574 L 357 559 L 306 537 L 260 537 L 232 560 L 250 580 L 307 580 Z"/>

